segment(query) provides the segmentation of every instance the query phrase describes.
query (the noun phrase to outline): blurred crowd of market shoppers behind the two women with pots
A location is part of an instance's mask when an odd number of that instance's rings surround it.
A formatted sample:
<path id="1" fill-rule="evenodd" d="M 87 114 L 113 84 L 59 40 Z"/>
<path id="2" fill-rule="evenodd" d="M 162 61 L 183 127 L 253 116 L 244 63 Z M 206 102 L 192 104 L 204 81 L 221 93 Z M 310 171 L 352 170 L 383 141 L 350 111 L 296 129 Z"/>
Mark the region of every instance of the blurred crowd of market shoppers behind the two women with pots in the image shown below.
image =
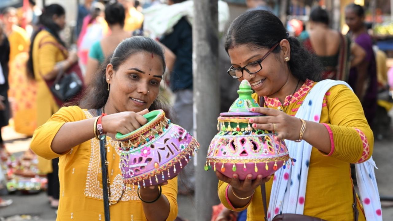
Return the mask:
<path id="1" fill-rule="evenodd" d="M 264 0 L 246 0 L 246 4 L 248 10 L 272 11 Z M 229 17 L 228 5 L 220 0 L 220 33 L 227 28 Z M 373 44 L 364 17 L 361 6 L 347 6 L 345 21 L 350 31 L 342 35 L 329 28 L 329 13 L 318 6 L 312 9 L 307 25 L 292 20 L 288 30 L 320 59 L 325 68 L 322 79 L 349 83 L 362 102 L 375 137 L 382 139 L 390 127 L 387 113 L 393 107 L 393 68 L 387 69 L 386 54 Z M 66 11 L 61 5 L 41 9 L 35 0 L 29 0 L 21 8 L 4 9 L 0 19 L 0 127 L 11 124 L 16 132 L 32 136 L 60 107 L 78 101 L 92 76 L 106 68 L 106 58 L 121 41 L 143 35 L 165 48 L 167 72 L 162 94 L 173 102 L 174 120 L 193 131 L 193 19 L 193 0 L 144 4 L 137 0 L 84 0 L 77 8 L 71 38 L 75 40 L 66 42 L 62 36 Z M 220 46 L 219 74 L 224 76 L 220 78 L 221 110 L 226 112 L 236 98 L 238 83 L 226 76 L 230 61 L 223 49 Z M 69 81 L 77 90 L 67 95 L 61 90 L 61 79 L 70 73 Z M 58 159 L 46 160 L 31 151 L 13 158 L 4 148 L 1 133 L 0 145 L 0 184 L 8 191 L 45 188 L 50 205 L 56 208 L 60 197 Z M 182 172 L 180 194 L 194 192 L 193 171 L 193 165 L 188 164 Z M 0 206 L 10 203 L 0 198 Z M 222 205 L 214 211 L 212 220 L 246 220 L 245 212 L 234 214 Z"/>

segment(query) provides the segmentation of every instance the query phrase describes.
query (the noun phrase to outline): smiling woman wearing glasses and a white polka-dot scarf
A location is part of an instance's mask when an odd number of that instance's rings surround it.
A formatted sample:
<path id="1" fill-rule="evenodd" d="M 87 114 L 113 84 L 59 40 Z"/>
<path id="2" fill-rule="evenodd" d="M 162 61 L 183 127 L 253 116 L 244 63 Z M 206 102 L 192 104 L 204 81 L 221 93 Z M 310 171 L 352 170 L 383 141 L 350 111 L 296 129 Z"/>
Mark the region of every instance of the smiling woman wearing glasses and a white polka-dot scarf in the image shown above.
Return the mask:
<path id="1" fill-rule="evenodd" d="M 251 174 L 241 181 L 236 174 L 225 177 L 217 171 L 221 202 L 234 211 L 248 208 L 250 220 L 272 220 L 279 214 L 382 220 L 373 161 L 368 160 L 373 133 L 351 88 L 342 81 L 317 83 L 321 64 L 288 37 L 279 18 L 268 11 L 249 11 L 236 18 L 225 48 L 232 63 L 228 74 L 251 83 L 253 98 L 261 105 L 251 111 L 266 115 L 250 120 L 252 127 L 275 131 L 297 161 L 272 177 L 255 180 Z M 363 202 L 354 195 L 350 163 L 357 164 L 362 177 L 358 185 Z M 264 182 L 266 189 L 259 188 Z"/>

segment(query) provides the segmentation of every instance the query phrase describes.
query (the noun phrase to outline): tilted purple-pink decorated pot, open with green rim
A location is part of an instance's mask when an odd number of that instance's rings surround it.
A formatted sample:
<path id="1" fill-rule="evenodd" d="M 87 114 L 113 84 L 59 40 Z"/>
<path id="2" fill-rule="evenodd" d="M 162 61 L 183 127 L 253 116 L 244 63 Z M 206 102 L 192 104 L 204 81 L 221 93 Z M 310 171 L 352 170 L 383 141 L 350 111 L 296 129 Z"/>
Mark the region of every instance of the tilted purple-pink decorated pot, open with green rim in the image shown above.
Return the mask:
<path id="1" fill-rule="evenodd" d="M 163 110 L 153 110 L 143 116 L 148 123 L 129 134 L 116 134 L 121 149 L 119 167 L 128 188 L 172 179 L 199 148 L 195 138 L 171 123 Z"/>

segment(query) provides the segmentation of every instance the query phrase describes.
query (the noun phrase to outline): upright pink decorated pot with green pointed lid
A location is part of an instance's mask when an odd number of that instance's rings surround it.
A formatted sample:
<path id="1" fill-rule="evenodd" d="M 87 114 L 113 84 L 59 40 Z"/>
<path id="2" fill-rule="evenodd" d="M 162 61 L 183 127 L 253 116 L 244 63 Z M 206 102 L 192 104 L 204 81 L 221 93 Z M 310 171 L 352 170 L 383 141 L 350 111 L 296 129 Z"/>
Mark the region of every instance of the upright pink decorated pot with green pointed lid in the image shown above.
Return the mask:
<path id="1" fill-rule="evenodd" d="M 229 112 L 221 113 L 217 130 L 208 150 L 205 170 L 218 169 L 227 177 L 234 173 L 244 180 L 252 174 L 267 177 L 282 166 L 289 168 L 289 154 L 285 142 L 275 141 L 272 131 L 256 130 L 248 121 L 263 114 L 250 112 L 259 105 L 252 99 L 251 85 L 243 80 L 237 91 L 239 98 L 231 105 Z"/>

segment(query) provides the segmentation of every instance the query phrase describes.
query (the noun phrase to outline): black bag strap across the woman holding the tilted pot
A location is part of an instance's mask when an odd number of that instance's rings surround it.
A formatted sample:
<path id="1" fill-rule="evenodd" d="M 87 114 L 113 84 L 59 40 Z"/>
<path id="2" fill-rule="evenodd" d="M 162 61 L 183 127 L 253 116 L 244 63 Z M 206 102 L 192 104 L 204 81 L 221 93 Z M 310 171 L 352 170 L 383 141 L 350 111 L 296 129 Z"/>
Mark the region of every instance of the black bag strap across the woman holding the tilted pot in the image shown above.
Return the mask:
<path id="1" fill-rule="evenodd" d="M 97 116 L 102 114 L 101 109 L 97 109 Z M 110 214 L 109 214 L 109 195 L 108 195 L 108 184 L 107 184 L 107 173 L 104 171 L 106 168 L 105 165 L 105 142 L 106 138 L 99 141 L 99 150 L 101 155 L 101 175 L 102 175 L 102 192 L 104 198 L 104 214 L 105 214 L 105 221 L 110 221 Z"/>

